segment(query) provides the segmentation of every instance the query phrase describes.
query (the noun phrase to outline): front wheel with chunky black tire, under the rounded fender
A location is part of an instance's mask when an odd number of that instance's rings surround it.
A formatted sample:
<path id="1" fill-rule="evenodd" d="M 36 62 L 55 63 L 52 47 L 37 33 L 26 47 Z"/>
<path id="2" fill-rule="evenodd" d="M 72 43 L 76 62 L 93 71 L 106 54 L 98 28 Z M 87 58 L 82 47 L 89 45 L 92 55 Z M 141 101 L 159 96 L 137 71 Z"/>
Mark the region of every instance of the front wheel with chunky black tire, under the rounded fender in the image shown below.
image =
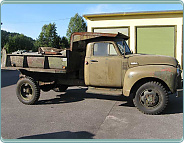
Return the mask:
<path id="1" fill-rule="evenodd" d="M 138 88 L 133 102 L 142 113 L 156 115 L 166 108 L 168 95 L 160 83 L 151 81 Z"/>

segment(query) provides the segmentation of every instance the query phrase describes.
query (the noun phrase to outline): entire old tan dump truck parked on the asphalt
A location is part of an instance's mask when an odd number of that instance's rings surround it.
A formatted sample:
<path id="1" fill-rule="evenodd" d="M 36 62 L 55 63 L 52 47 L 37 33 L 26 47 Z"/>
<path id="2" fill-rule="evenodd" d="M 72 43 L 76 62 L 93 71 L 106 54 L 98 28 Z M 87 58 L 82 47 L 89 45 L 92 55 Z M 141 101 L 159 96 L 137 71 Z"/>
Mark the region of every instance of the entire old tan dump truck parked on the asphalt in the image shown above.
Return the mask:
<path id="1" fill-rule="evenodd" d="M 35 104 L 40 89 L 63 92 L 69 86 L 121 89 L 145 114 L 161 113 L 168 95 L 181 88 L 178 61 L 169 56 L 133 54 L 129 37 L 118 33 L 77 32 L 62 54 L 6 54 L 2 69 L 17 69 L 16 94 L 24 104 Z"/>

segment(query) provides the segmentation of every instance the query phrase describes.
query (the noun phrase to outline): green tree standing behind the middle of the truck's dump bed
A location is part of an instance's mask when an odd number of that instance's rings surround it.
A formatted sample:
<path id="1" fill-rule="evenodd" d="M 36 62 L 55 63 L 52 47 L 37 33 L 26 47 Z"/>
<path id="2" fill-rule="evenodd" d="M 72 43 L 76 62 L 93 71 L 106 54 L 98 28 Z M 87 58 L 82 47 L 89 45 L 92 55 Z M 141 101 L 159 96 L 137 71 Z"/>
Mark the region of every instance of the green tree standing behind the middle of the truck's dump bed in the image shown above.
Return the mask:
<path id="1" fill-rule="evenodd" d="M 42 27 L 42 31 L 36 41 L 38 47 L 53 47 L 60 48 L 61 38 L 56 32 L 56 24 L 49 23 Z"/>

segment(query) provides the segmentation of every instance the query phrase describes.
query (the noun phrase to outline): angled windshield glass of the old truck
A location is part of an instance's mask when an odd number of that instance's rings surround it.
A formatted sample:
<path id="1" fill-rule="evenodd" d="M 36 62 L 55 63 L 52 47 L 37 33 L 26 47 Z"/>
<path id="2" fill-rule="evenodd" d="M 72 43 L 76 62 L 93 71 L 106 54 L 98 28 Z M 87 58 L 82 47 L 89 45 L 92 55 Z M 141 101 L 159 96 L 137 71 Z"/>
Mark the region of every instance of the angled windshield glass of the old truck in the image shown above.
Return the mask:
<path id="1" fill-rule="evenodd" d="M 130 51 L 130 49 L 129 49 L 129 47 L 128 47 L 128 45 L 127 45 L 125 40 L 118 41 L 117 45 L 118 45 L 118 48 L 119 48 L 119 50 L 120 50 L 122 55 L 124 55 L 124 52 L 125 52 L 125 55 L 131 54 L 131 51 Z"/>

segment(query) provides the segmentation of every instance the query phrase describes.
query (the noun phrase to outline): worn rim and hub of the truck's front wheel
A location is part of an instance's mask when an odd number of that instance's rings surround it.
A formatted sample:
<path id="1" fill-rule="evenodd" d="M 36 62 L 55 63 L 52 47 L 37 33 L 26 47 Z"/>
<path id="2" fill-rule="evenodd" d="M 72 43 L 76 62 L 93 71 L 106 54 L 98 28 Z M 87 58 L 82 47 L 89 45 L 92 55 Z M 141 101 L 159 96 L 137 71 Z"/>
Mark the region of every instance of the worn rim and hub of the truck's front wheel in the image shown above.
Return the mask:
<path id="1" fill-rule="evenodd" d="M 161 94 L 155 89 L 146 89 L 140 94 L 140 103 L 146 108 L 155 108 L 161 102 Z"/>

